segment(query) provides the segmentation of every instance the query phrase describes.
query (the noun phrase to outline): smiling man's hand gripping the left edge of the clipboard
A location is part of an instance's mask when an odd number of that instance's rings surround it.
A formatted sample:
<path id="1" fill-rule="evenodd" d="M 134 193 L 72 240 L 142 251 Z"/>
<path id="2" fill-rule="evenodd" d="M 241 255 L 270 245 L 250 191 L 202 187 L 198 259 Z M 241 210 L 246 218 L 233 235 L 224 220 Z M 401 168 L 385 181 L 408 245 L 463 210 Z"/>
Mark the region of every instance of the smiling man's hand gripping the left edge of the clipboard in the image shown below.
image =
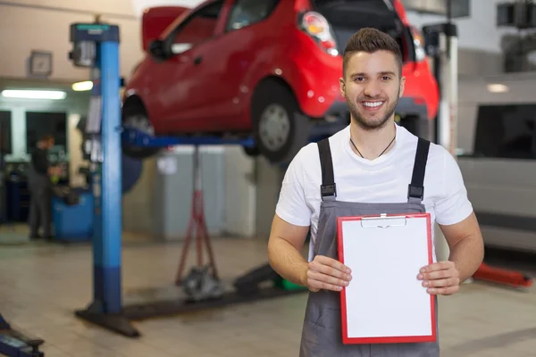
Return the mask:
<path id="1" fill-rule="evenodd" d="M 316 255 L 307 268 L 306 286 L 312 292 L 320 289 L 340 291 L 352 279 L 351 270 L 343 263 Z"/>

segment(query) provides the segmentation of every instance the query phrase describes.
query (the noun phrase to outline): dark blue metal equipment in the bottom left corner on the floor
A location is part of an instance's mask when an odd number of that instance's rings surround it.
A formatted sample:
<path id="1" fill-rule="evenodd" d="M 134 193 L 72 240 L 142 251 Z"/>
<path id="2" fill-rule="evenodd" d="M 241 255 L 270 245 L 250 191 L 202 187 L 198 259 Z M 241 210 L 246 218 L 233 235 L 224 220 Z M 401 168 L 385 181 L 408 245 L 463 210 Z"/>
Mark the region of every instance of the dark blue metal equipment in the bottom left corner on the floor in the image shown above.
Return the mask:
<path id="1" fill-rule="evenodd" d="M 39 346 L 45 341 L 40 338 L 30 338 L 13 329 L 0 314 L 0 354 L 8 357 L 44 357 Z"/>

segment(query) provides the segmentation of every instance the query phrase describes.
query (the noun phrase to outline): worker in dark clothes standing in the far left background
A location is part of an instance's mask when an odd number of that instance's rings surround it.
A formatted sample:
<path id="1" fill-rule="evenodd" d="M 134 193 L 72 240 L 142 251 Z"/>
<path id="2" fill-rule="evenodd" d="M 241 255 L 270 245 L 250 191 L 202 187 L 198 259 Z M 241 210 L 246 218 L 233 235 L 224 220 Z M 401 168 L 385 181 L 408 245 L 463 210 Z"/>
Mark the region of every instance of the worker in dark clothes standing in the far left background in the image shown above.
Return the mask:
<path id="1" fill-rule="evenodd" d="M 50 220 L 52 211 L 52 187 L 50 176 L 60 175 L 61 168 L 51 167 L 48 150 L 54 146 L 54 137 L 45 135 L 38 141 L 31 154 L 28 172 L 29 184 L 29 237 L 40 238 L 39 226 L 43 227 L 43 237 L 50 239 Z"/>

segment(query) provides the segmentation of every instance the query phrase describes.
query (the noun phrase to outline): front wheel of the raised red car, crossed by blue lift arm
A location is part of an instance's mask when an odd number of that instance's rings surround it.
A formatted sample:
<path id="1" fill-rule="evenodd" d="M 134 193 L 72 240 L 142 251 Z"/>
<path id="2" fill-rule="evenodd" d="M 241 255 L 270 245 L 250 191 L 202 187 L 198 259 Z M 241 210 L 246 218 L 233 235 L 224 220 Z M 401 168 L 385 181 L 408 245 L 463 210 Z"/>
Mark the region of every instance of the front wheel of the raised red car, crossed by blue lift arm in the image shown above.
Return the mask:
<path id="1" fill-rule="evenodd" d="M 150 136 L 155 135 L 155 129 L 147 117 L 143 104 L 139 103 L 139 101 L 132 100 L 123 104 L 121 120 L 123 128 L 137 129 Z M 122 143 L 123 154 L 135 159 L 147 159 L 158 154 L 160 150 L 160 147 L 144 147 Z"/>

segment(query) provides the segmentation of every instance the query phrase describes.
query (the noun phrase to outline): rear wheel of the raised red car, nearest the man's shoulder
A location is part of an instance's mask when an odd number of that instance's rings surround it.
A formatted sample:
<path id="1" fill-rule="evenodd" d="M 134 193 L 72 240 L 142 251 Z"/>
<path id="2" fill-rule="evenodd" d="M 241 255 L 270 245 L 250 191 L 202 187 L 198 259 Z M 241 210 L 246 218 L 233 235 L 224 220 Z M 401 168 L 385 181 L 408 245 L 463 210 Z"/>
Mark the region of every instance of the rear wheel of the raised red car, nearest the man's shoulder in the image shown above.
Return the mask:
<path id="1" fill-rule="evenodd" d="M 289 163 L 308 143 L 309 118 L 300 109 L 289 87 L 267 79 L 252 99 L 255 145 L 269 162 Z"/>

